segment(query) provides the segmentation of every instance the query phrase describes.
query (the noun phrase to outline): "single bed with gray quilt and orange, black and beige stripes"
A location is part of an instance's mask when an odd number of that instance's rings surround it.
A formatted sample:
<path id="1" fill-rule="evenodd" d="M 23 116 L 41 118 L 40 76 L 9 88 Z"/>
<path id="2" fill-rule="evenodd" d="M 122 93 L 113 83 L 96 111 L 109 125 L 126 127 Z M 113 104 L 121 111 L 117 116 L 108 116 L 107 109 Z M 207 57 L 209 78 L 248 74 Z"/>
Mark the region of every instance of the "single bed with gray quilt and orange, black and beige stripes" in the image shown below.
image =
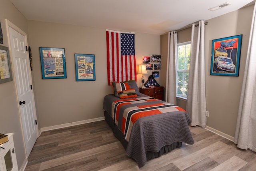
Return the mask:
<path id="1" fill-rule="evenodd" d="M 104 97 L 104 117 L 126 154 L 138 163 L 139 168 L 148 160 L 181 147 L 182 142 L 194 143 L 188 127 L 191 119 L 182 108 L 139 93 L 129 86 L 121 89 L 132 90 L 132 93 L 113 89 L 115 94 Z M 122 93 L 126 93 L 126 97 L 121 99 Z"/>

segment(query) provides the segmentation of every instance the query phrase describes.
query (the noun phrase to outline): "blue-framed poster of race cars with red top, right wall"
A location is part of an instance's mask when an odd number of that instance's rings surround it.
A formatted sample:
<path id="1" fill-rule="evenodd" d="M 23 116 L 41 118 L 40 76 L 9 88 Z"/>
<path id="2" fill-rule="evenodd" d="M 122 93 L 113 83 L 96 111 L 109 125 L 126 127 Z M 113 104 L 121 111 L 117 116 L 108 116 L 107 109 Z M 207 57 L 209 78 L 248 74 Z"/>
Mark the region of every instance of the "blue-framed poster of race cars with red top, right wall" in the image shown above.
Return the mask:
<path id="1" fill-rule="evenodd" d="M 242 34 L 212 40 L 211 75 L 238 76 Z"/>

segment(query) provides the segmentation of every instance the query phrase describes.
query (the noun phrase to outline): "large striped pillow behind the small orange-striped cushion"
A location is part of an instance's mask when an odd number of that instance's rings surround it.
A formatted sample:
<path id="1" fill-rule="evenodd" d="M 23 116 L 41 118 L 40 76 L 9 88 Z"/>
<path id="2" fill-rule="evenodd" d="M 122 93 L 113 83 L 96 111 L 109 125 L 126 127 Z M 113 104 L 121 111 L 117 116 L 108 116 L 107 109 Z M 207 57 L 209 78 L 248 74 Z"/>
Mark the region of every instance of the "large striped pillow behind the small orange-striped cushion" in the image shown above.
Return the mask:
<path id="1" fill-rule="evenodd" d="M 116 97 L 118 97 L 118 91 L 123 91 L 126 89 L 134 89 L 136 94 L 140 95 L 140 91 L 138 89 L 138 86 L 135 80 L 128 81 L 128 82 L 111 82 L 111 84 L 114 89 L 114 94 Z"/>

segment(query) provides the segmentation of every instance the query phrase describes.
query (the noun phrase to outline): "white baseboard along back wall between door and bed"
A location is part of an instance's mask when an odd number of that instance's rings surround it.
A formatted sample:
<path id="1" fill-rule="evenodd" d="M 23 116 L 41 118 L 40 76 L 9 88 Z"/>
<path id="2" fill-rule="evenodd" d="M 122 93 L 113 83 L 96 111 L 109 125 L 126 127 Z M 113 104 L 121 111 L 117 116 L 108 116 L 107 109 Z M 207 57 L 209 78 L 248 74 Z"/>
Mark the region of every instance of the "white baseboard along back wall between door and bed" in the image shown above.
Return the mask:
<path id="1" fill-rule="evenodd" d="M 81 125 L 81 124 L 84 124 L 84 123 L 102 121 L 104 119 L 105 119 L 104 117 L 98 117 L 98 118 L 94 118 L 94 119 L 87 119 L 87 120 L 83 120 L 83 121 L 64 123 L 64 124 L 54 125 L 54 126 L 50 126 L 50 127 L 43 127 L 43 128 L 40 129 L 39 132 L 40 132 L 40 135 L 41 135 L 41 133 L 44 132 L 44 131 L 50 131 L 50 130 L 53 130 L 53 129 L 70 127 L 70 126 L 74 126 L 74 125 Z"/>

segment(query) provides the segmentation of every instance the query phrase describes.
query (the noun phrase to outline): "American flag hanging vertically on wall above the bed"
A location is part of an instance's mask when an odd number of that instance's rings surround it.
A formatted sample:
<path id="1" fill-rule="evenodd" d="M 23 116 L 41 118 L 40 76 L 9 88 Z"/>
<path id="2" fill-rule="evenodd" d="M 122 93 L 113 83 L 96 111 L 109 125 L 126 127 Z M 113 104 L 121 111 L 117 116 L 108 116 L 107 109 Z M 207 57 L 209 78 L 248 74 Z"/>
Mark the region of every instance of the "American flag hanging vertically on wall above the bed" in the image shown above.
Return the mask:
<path id="1" fill-rule="evenodd" d="M 106 30 L 108 85 L 136 80 L 134 33 Z"/>

